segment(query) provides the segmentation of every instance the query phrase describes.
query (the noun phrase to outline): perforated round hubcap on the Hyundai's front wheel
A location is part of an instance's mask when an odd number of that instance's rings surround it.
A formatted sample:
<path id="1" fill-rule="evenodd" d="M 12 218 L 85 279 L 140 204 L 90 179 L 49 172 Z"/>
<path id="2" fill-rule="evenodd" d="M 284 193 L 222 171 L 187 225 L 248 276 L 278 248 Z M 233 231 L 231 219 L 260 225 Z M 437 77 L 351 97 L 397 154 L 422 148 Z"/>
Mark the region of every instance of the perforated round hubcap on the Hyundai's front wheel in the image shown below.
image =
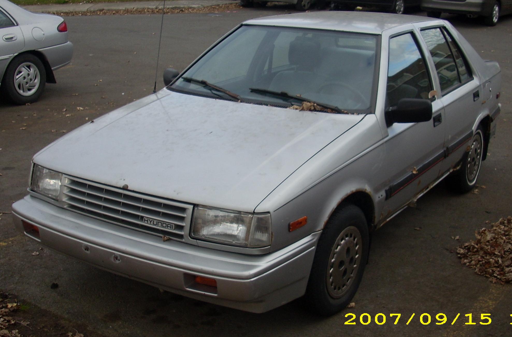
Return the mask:
<path id="1" fill-rule="evenodd" d="M 340 298 L 348 291 L 361 263 L 362 239 L 359 230 L 347 227 L 339 234 L 327 266 L 327 291 L 332 298 Z"/>

